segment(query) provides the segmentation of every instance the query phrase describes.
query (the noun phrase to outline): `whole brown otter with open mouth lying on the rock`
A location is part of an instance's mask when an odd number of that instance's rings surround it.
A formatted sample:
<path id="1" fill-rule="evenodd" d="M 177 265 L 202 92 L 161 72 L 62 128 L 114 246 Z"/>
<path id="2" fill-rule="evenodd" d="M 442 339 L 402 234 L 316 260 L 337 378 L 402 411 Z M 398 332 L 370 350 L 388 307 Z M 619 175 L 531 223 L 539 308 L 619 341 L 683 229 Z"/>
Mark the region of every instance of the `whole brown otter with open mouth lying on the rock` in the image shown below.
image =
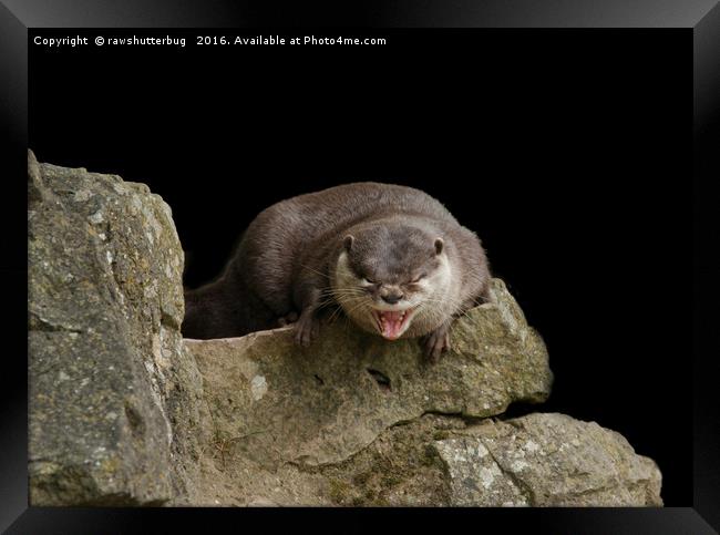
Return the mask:
<path id="1" fill-rule="evenodd" d="M 295 323 L 310 346 L 326 311 L 388 340 L 423 337 L 432 361 L 453 319 L 488 297 L 477 236 L 430 195 L 357 183 L 260 213 L 220 277 L 186 291 L 183 333 L 226 338 Z"/>

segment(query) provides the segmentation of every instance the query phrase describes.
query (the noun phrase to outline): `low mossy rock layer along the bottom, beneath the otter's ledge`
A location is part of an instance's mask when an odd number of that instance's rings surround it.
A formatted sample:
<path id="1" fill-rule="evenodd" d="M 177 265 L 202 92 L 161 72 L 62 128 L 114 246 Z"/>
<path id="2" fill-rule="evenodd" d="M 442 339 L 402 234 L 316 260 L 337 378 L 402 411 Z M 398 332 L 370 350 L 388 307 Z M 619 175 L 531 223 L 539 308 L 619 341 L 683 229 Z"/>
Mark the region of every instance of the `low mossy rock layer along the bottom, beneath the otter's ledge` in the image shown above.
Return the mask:
<path id="1" fill-rule="evenodd" d="M 315 466 L 269 467 L 251 460 L 241 443 L 218 440 L 216 446 L 200 459 L 197 494 L 176 504 L 662 504 L 652 461 L 635 454 L 619 434 L 562 414 L 506 421 L 425 414 L 383 430 L 343 461 Z"/>

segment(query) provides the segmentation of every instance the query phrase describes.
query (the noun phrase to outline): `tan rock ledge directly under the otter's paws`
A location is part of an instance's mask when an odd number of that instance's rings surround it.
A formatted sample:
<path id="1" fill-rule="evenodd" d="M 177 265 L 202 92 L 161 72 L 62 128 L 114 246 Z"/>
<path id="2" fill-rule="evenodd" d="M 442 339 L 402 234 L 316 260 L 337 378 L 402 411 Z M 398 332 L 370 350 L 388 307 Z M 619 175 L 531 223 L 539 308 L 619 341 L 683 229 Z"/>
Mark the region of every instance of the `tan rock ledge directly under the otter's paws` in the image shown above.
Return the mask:
<path id="1" fill-rule="evenodd" d="M 501 280 L 493 302 L 452 329 L 453 351 L 426 366 L 418 340 L 388 342 L 346 320 L 299 348 L 292 327 L 193 341 L 214 432 L 267 465 L 337 463 L 425 413 L 483 418 L 544 401 L 552 374 L 537 333 Z"/>

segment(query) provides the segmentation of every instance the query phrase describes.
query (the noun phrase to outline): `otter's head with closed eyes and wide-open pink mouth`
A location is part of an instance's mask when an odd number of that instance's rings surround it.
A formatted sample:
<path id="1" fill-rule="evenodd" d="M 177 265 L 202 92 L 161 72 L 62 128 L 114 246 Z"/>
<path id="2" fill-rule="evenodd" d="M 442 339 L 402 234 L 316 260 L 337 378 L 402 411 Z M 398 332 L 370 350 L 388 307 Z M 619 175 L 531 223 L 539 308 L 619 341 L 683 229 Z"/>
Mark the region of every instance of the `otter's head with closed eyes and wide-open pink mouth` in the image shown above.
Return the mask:
<path id="1" fill-rule="evenodd" d="M 332 294 L 362 329 L 389 340 L 426 335 L 450 310 L 445 243 L 430 230 L 376 224 L 338 244 Z"/>

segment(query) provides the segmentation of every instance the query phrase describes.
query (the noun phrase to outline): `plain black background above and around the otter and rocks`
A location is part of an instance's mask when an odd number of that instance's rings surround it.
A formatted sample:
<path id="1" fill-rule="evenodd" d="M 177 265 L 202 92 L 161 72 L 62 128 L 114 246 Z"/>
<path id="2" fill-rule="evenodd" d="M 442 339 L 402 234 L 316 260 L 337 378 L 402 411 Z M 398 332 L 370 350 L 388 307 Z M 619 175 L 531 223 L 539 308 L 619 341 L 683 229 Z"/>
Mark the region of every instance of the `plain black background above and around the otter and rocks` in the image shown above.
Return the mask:
<path id="1" fill-rule="evenodd" d="M 316 32 L 338 33 L 370 34 Z M 276 200 L 425 189 L 543 335 L 555 385 L 536 410 L 619 431 L 658 462 L 666 505 L 691 505 L 691 35 L 374 33 L 389 44 L 30 44 L 29 146 L 162 195 L 191 286 Z"/>

